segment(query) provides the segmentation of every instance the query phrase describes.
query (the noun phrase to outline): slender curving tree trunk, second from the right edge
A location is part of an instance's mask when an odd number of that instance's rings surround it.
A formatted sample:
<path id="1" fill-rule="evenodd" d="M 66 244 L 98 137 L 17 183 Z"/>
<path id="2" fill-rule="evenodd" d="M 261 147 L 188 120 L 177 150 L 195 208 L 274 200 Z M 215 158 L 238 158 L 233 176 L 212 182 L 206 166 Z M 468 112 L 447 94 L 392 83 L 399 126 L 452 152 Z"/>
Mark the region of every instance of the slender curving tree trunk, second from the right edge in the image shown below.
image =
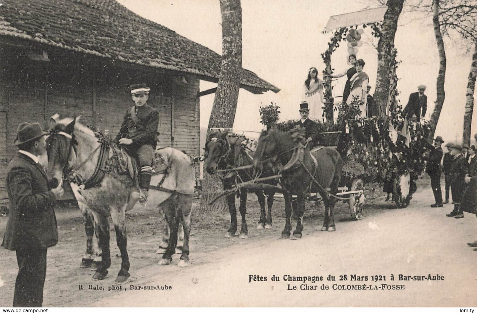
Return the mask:
<path id="1" fill-rule="evenodd" d="M 434 0 L 432 5 L 432 23 L 434 24 L 434 34 L 436 36 L 437 50 L 439 51 L 439 73 L 437 74 L 437 99 L 434 102 L 434 111 L 431 115 L 431 131 L 429 133 L 429 139 L 434 138 L 436 132 L 437 121 L 441 115 L 442 105 L 446 98 L 446 92 L 444 91 L 444 82 L 446 80 L 446 50 L 444 50 L 444 40 L 442 39 L 442 32 L 439 24 L 439 0 Z"/>

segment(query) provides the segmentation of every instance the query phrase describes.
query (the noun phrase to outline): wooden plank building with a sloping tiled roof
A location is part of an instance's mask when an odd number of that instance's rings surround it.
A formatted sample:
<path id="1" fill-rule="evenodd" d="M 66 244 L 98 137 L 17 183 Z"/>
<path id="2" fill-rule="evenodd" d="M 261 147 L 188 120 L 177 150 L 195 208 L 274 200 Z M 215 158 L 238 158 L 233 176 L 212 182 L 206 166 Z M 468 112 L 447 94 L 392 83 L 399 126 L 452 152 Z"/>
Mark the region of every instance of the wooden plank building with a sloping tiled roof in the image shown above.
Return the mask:
<path id="1" fill-rule="evenodd" d="M 0 58 L 2 203 L 8 202 L 5 168 L 17 151 L 12 142 L 21 122 L 46 127 L 54 113 L 82 115 L 83 123 L 115 134 L 133 104 L 133 83 L 151 88 L 159 144 L 200 154 L 199 81 L 218 81 L 220 55 L 114 0 L 4 1 Z M 251 71 L 242 73 L 248 91 L 279 91 Z"/>

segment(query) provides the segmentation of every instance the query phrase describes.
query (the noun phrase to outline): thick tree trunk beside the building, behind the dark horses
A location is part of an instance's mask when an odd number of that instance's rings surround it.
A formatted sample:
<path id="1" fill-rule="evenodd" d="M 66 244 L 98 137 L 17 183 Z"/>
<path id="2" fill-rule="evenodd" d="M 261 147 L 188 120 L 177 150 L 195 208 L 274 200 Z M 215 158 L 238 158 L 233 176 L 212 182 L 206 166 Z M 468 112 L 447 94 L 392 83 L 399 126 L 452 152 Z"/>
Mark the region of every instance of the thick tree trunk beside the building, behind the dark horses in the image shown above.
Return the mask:
<path id="1" fill-rule="evenodd" d="M 240 0 L 220 0 L 222 15 L 222 64 L 214 105 L 210 113 L 207 138 L 211 128 L 231 129 L 234 124 L 239 99 L 242 72 L 242 8 Z M 204 168 L 207 164 L 204 164 Z M 208 203 L 223 190 L 222 182 L 204 171 L 201 212 L 223 211 L 225 198 L 213 205 Z"/>

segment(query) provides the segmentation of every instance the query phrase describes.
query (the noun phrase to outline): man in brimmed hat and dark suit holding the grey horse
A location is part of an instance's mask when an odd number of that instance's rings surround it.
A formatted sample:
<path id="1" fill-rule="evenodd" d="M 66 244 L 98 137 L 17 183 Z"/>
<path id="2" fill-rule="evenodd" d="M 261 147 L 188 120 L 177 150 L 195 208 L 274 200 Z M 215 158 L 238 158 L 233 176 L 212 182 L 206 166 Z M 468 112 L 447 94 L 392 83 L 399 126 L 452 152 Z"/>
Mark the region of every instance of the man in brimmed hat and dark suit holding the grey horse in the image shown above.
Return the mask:
<path id="1" fill-rule="evenodd" d="M 41 307 L 46 275 L 47 248 L 58 242 L 53 210 L 62 186 L 50 190 L 38 163 L 45 152 L 46 132 L 38 123 L 21 123 L 13 144 L 19 151 L 10 161 L 5 178 L 10 215 L 2 246 L 17 253 L 18 275 L 14 307 Z"/>

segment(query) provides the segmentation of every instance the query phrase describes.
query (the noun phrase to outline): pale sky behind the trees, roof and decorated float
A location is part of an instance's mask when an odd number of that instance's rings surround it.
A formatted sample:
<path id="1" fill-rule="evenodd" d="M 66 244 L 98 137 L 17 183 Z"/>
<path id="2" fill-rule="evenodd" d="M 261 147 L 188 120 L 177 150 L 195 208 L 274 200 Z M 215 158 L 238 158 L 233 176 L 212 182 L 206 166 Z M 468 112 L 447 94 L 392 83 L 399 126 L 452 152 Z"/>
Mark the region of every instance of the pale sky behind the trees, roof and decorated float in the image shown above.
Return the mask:
<path id="1" fill-rule="evenodd" d="M 222 29 L 218 0 L 118 0 L 126 8 L 146 19 L 176 31 L 221 54 Z M 280 106 L 280 120 L 299 118 L 299 104 L 303 100 L 303 83 L 310 67 L 324 69 L 321 53 L 325 51 L 332 33 L 323 34 L 330 16 L 375 8 L 367 0 L 241 0 L 242 6 L 242 66 L 281 89 L 254 95 L 241 89 L 234 131 L 247 131 L 257 137 L 260 124 L 259 107 L 270 102 Z M 439 58 L 430 17 L 403 13 L 395 37 L 399 64 L 399 100 L 403 107 L 409 94 L 417 86 L 427 86 L 429 120 L 436 101 L 436 79 Z M 370 77 L 374 91 L 377 71 L 377 39 L 369 28 L 364 30 L 363 46 L 357 57 L 366 65 L 363 69 Z M 447 71 L 446 100 L 437 125 L 436 136 L 446 142 L 461 142 L 466 103 L 467 77 L 471 53 L 466 54 L 464 44 L 445 38 Z M 346 70 L 348 55 L 342 44 L 332 55 L 335 71 Z M 321 77 L 322 78 L 322 77 Z M 336 82 L 334 95 L 339 95 L 345 78 Z M 216 87 L 215 83 L 200 81 L 200 90 Z M 200 126 L 207 129 L 214 94 L 200 98 Z M 473 116 L 472 134 L 477 132 L 477 114 Z M 473 136 L 472 136 L 473 137 Z M 472 144 L 475 144 L 472 138 Z M 202 142 L 203 144 L 203 142 Z"/>

